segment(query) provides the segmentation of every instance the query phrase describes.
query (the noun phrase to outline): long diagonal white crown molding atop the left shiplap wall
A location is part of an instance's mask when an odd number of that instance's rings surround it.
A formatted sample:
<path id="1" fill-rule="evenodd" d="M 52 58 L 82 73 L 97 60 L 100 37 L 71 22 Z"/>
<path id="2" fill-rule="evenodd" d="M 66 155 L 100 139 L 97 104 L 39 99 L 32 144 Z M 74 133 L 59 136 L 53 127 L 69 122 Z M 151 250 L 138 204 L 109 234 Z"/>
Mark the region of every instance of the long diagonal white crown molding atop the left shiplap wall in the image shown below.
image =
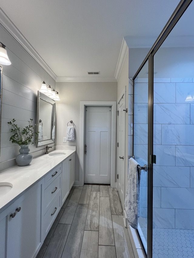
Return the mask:
<path id="1" fill-rule="evenodd" d="M 51 70 L 51 68 L 45 63 L 38 52 L 32 47 L 32 45 L 27 41 L 24 35 L 18 30 L 15 24 L 8 18 L 5 12 L 0 8 L 0 23 L 4 29 L 14 38 L 24 49 L 30 54 L 34 60 L 53 78 L 56 80 L 56 74 Z"/>

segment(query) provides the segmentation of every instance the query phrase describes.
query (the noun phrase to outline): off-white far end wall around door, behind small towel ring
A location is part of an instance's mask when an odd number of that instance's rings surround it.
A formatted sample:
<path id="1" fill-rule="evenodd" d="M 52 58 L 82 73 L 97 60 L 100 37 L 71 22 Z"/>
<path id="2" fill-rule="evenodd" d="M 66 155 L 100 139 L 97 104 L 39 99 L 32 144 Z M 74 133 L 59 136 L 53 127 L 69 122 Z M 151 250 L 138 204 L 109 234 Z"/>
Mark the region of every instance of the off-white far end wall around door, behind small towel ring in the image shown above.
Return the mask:
<path id="1" fill-rule="evenodd" d="M 75 181 L 79 181 L 80 101 L 116 101 L 117 82 L 56 83 L 56 90 L 61 100 L 56 103 L 56 145 L 76 146 Z M 63 143 L 70 120 L 75 125 L 75 141 Z"/>

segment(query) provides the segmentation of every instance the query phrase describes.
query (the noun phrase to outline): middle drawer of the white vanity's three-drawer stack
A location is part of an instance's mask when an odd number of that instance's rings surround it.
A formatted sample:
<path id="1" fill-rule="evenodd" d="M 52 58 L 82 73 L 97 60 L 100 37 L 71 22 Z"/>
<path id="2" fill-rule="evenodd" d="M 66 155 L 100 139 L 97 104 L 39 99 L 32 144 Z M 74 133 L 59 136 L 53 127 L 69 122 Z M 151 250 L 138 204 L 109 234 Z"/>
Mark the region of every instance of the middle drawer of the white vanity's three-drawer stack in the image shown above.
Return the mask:
<path id="1" fill-rule="evenodd" d="M 44 199 L 45 213 L 54 196 L 58 193 L 58 191 L 61 191 L 61 175 L 62 174 L 58 175 L 58 177 L 55 178 L 55 180 L 52 181 L 52 183 L 45 189 L 45 199 Z"/>

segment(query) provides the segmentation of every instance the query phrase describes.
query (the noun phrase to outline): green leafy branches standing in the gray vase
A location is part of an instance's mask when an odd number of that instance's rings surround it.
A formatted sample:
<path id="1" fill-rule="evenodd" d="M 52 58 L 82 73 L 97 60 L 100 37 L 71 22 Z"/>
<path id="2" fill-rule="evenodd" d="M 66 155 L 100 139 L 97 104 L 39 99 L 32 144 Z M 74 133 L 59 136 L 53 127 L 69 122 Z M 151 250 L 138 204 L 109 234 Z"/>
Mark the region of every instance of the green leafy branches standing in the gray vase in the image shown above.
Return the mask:
<path id="1" fill-rule="evenodd" d="M 10 141 L 12 141 L 12 143 L 17 143 L 18 145 L 28 145 L 33 144 L 35 141 L 37 141 L 38 132 L 36 132 L 36 128 L 32 126 L 33 119 L 30 119 L 30 121 L 28 121 L 29 125 L 25 126 L 22 131 L 20 130 L 20 127 L 15 124 L 15 121 L 16 120 L 13 118 L 12 121 L 8 122 L 8 124 L 13 127 L 11 129 L 11 132 L 13 132 L 14 134 L 9 139 Z"/>

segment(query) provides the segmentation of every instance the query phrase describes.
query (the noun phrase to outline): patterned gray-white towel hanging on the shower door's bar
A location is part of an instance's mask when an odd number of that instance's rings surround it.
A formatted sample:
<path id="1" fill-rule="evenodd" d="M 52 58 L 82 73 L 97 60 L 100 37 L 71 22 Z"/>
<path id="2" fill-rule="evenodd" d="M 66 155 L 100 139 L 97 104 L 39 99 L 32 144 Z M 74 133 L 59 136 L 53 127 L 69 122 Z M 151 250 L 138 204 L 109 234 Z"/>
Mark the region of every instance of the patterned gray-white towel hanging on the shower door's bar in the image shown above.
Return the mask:
<path id="1" fill-rule="evenodd" d="M 139 210 L 139 190 L 140 190 L 140 173 L 138 173 L 135 159 L 129 159 L 129 174 L 127 190 L 125 196 L 125 211 L 131 227 L 138 227 L 138 210 Z"/>

